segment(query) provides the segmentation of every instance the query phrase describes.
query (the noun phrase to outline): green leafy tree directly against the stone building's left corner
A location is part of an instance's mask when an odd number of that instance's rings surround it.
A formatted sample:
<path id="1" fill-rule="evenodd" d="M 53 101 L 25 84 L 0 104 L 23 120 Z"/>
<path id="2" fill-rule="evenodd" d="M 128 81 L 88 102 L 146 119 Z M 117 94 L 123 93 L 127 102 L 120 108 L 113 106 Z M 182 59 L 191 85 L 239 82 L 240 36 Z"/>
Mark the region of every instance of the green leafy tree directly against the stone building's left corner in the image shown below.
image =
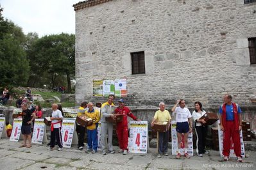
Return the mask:
<path id="1" fill-rule="evenodd" d="M 35 75 L 44 72 L 51 76 L 55 88 L 58 77 L 65 75 L 67 91 L 71 91 L 71 77 L 74 75 L 74 35 L 60 34 L 39 38 L 29 50 L 31 70 Z"/>

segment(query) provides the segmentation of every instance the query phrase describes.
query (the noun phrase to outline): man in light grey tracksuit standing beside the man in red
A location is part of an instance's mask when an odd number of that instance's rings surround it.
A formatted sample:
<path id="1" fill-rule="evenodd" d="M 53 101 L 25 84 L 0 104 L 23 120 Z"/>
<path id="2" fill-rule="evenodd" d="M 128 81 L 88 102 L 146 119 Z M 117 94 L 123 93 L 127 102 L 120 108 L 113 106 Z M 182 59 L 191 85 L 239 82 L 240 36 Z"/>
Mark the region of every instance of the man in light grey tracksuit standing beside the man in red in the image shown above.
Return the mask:
<path id="1" fill-rule="evenodd" d="M 106 118 L 115 118 L 114 98 L 114 95 L 108 95 L 108 101 L 101 105 L 101 147 L 103 155 L 107 154 L 107 148 L 109 153 L 115 153 L 112 144 L 113 123 L 106 121 Z"/>

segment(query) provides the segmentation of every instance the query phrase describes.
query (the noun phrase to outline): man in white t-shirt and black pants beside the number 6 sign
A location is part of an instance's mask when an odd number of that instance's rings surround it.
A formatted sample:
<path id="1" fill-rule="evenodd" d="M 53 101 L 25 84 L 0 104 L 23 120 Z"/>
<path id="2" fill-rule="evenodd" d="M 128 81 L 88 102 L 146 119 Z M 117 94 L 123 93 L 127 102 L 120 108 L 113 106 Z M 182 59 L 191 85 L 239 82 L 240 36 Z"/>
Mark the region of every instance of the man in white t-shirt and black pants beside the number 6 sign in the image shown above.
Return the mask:
<path id="1" fill-rule="evenodd" d="M 62 151 L 62 134 L 60 128 L 62 127 L 62 112 L 58 110 L 58 105 L 53 104 L 51 106 L 53 113 L 51 114 L 51 146 L 50 150 L 55 148 L 55 137 L 58 142 L 58 151 Z"/>

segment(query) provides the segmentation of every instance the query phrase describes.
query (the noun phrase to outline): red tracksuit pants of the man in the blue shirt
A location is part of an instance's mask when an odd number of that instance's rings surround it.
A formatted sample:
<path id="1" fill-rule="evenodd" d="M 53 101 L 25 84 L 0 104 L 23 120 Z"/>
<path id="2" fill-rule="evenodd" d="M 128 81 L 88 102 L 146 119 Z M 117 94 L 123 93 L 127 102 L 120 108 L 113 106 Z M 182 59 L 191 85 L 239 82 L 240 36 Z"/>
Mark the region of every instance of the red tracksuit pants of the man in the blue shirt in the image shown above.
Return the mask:
<path id="1" fill-rule="evenodd" d="M 241 157 L 241 143 L 239 130 L 235 130 L 235 121 L 226 121 L 225 131 L 223 132 L 223 155 L 229 157 L 231 139 L 234 143 L 234 151 L 237 157 Z"/>

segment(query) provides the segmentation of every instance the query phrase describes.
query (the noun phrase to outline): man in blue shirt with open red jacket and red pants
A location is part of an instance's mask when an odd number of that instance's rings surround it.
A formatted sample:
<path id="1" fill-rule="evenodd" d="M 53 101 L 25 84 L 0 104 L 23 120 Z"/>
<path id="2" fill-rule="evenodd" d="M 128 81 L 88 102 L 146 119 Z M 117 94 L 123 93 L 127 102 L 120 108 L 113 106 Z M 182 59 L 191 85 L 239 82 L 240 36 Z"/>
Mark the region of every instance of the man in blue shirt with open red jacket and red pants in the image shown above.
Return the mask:
<path id="1" fill-rule="evenodd" d="M 221 130 L 223 130 L 223 155 L 227 161 L 230 153 L 230 141 L 233 140 L 237 162 L 243 162 L 239 131 L 242 129 L 242 111 L 232 102 L 231 95 L 224 96 L 224 104 L 219 107 Z"/>

